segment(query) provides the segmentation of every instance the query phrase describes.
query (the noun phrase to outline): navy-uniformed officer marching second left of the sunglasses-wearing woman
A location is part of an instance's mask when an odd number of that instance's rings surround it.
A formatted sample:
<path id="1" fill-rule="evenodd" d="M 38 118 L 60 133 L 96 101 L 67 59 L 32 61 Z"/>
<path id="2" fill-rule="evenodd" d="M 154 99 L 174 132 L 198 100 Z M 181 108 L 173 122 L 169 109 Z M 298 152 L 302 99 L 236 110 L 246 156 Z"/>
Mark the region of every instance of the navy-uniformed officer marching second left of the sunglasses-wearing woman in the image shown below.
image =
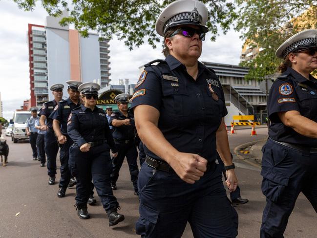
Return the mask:
<path id="1" fill-rule="evenodd" d="M 39 112 L 41 126 L 40 130 L 46 130 L 44 143 L 45 153 L 47 156 L 47 173 L 49 176 L 49 185 L 53 185 L 55 183 L 56 156 L 59 148 L 53 130 L 53 119 L 49 118 L 49 115 L 53 112 L 57 104 L 62 100 L 63 88 L 63 84 L 52 85 L 50 87 L 50 90 L 54 95 L 54 100 L 44 103 L 42 109 Z"/>

